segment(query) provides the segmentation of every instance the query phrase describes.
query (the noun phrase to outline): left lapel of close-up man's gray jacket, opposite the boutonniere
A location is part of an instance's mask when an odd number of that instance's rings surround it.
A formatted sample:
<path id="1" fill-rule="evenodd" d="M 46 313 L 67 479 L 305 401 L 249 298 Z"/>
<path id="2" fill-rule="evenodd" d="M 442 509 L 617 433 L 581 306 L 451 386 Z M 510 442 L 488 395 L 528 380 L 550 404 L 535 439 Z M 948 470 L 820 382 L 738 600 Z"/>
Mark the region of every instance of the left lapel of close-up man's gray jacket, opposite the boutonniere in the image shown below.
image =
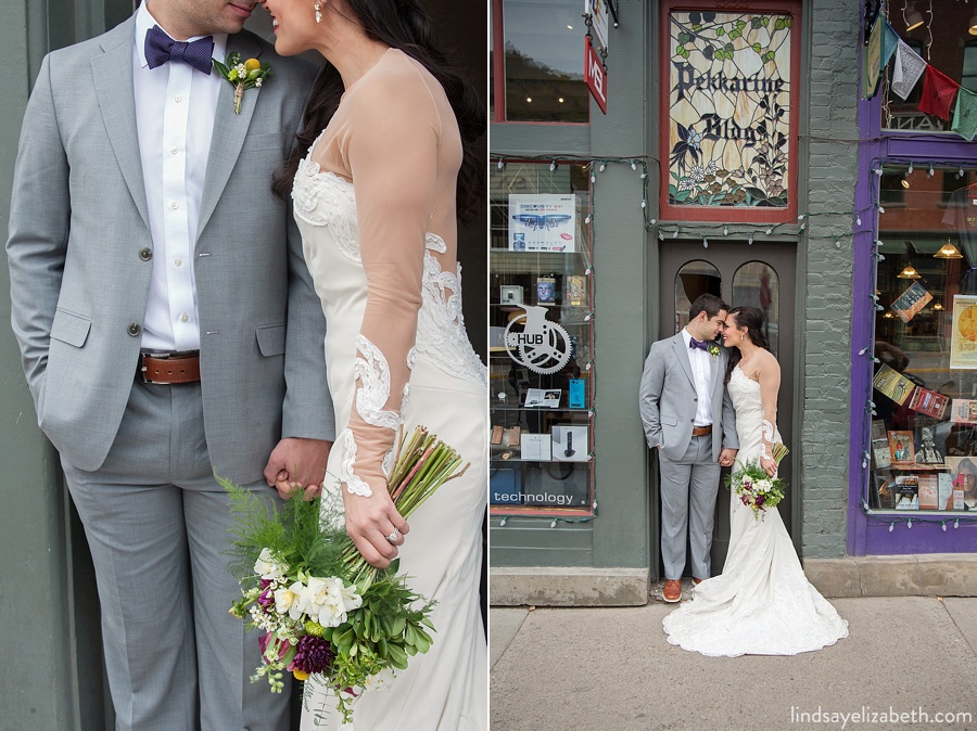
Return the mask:
<path id="1" fill-rule="evenodd" d="M 91 61 L 96 98 L 123 178 L 147 228 L 149 214 L 139 132 L 136 128 L 136 92 L 132 81 L 135 17 L 117 26 L 102 41 L 104 53 Z"/>

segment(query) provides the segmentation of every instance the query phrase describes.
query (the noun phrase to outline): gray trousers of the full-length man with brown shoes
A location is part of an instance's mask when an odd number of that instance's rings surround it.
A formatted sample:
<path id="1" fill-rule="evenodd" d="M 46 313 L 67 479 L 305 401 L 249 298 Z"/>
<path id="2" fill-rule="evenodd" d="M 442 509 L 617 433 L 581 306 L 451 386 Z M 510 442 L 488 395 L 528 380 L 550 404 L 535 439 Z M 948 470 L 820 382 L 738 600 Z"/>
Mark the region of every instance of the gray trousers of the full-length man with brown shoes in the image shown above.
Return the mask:
<path id="1" fill-rule="evenodd" d="M 658 465 L 661 471 L 661 557 L 665 578 L 682 578 L 687 530 L 693 576 L 708 579 L 722 470 L 712 457 L 712 437 L 693 437 L 678 461 L 665 458 L 659 450 Z"/>

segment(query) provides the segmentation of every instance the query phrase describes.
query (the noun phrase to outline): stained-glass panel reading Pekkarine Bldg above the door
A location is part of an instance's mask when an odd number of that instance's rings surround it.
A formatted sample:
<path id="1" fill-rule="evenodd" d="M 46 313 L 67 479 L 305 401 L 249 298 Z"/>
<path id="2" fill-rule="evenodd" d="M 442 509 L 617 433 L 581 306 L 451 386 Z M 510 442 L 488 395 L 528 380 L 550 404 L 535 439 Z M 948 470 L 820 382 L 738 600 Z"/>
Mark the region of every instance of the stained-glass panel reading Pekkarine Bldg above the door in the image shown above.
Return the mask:
<path id="1" fill-rule="evenodd" d="M 784 210 L 794 197 L 797 16 L 706 8 L 667 15 L 663 203 L 682 216 L 690 206 Z"/>

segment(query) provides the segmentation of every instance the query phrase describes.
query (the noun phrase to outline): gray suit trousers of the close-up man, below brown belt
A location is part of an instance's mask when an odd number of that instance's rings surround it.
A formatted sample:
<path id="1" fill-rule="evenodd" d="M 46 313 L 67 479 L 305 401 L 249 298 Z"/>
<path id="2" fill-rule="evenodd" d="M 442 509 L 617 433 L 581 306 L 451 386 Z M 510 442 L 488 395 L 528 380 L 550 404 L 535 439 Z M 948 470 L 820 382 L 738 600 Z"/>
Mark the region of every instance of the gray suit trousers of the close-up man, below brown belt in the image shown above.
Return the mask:
<path id="1" fill-rule="evenodd" d="M 137 380 L 102 467 L 62 463 L 94 562 L 116 729 L 288 729 L 289 685 L 251 683 L 257 633 L 228 614 L 241 592 L 200 384 Z"/>

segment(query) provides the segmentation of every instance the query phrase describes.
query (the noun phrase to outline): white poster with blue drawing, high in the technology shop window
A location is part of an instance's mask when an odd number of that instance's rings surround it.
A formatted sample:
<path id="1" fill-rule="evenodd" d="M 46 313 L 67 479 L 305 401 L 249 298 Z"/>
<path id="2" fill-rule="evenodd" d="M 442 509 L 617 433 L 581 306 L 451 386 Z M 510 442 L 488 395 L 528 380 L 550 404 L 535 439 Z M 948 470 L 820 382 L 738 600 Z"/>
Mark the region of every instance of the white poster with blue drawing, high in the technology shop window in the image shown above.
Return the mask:
<path id="1" fill-rule="evenodd" d="M 576 196 L 509 194 L 509 251 L 576 251 Z"/>

